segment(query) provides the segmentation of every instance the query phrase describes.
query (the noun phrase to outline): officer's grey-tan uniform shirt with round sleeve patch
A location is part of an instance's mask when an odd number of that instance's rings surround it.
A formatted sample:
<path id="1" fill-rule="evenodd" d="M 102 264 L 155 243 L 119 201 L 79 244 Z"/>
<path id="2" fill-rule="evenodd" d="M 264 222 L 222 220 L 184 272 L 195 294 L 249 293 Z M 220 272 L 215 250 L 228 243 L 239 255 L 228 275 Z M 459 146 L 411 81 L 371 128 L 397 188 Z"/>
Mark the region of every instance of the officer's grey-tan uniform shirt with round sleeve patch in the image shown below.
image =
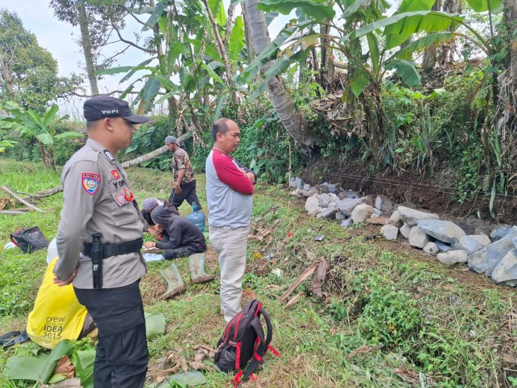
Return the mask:
<path id="1" fill-rule="evenodd" d="M 145 221 L 128 184 L 128 175 L 105 147 L 88 139 L 63 167 L 63 210 L 57 232 L 59 260 L 54 272 L 67 280 L 79 263 L 74 287 L 93 288 L 92 261 L 83 243 L 101 233 L 103 244 L 141 238 Z M 141 278 L 147 267 L 141 252 L 103 260 L 103 288 L 122 287 Z"/>

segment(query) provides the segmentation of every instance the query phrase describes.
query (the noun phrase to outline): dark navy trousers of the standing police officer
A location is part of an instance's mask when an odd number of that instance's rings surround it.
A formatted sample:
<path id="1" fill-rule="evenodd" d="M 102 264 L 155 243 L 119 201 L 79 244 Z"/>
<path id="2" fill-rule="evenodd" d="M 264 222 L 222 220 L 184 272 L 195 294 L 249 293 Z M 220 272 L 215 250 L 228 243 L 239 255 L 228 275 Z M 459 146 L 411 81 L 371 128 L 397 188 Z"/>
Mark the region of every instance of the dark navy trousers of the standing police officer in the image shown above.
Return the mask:
<path id="1" fill-rule="evenodd" d="M 95 388 L 143 387 L 149 354 L 139 283 L 106 289 L 74 287 L 99 329 Z"/>

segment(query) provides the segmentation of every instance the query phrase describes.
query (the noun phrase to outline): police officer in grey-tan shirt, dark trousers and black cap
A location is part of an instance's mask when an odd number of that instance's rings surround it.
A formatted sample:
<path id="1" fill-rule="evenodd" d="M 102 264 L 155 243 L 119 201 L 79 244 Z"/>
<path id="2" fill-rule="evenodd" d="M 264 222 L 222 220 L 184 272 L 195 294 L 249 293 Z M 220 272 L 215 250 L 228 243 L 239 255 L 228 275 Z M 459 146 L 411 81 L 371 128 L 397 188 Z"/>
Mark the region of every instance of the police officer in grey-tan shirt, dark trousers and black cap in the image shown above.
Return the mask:
<path id="1" fill-rule="evenodd" d="M 54 283 L 74 285 L 99 329 L 94 387 L 143 387 L 149 356 L 139 289 L 147 268 L 140 249 L 148 225 L 114 155 L 130 145 L 134 124 L 149 118 L 133 114 L 128 103 L 110 96 L 86 101 L 84 116 L 88 141 L 61 174 L 63 210 Z M 99 234 L 101 252 L 92 247 L 93 236 Z M 100 274 L 92 257 L 101 258 Z"/>

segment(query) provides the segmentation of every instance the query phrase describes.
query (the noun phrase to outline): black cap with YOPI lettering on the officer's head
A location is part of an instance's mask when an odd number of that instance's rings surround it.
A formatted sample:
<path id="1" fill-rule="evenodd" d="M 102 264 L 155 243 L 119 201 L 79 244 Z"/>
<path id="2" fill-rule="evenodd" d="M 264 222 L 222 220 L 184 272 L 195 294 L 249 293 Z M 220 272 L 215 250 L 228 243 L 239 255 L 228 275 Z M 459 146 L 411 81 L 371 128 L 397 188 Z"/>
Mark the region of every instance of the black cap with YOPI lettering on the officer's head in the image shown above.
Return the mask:
<path id="1" fill-rule="evenodd" d="M 110 96 L 95 96 L 85 101 L 83 105 L 86 121 L 97 121 L 106 117 L 122 117 L 132 123 L 147 123 L 148 116 L 134 114 L 128 103 Z"/>

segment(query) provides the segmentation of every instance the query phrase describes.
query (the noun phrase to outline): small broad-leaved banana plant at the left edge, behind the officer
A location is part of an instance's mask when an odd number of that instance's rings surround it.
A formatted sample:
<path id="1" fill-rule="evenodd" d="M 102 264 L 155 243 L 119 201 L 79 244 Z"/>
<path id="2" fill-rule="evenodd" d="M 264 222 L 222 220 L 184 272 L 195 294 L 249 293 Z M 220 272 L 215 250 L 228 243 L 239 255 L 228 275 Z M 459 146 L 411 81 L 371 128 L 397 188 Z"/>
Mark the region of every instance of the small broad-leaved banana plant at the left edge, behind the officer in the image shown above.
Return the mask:
<path id="1" fill-rule="evenodd" d="M 60 119 L 56 119 L 58 111 L 57 105 L 52 105 L 52 107 L 45 112 L 43 117 L 39 116 L 39 114 L 32 109 L 24 110 L 12 101 L 3 103 L 0 108 L 10 114 L 10 116 L 0 116 L 0 129 L 12 130 L 18 132 L 22 138 L 28 137 L 29 139 L 34 139 L 41 152 L 43 165 L 52 168 L 54 171 L 56 170 L 54 152 L 52 150 L 54 141 L 83 137 L 82 134 L 77 132 L 56 134 L 53 124 L 68 118 L 68 116 L 63 116 Z"/>

